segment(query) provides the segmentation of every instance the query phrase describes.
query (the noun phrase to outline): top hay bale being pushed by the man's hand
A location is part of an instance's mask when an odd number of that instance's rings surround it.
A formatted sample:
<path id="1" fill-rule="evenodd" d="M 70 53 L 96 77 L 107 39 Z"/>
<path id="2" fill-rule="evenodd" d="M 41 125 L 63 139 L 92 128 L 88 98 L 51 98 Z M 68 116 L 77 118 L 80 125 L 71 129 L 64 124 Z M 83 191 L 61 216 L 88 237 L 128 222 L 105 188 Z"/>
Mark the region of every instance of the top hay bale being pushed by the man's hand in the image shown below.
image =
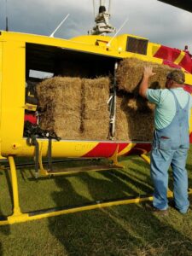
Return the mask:
<path id="1" fill-rule="evenodd" d="M 143 78 L 143 67 L 153 67 L 153 77 L 149 79 L 149 88 L 165 88 L 166 75 L 173 70 L 172 67 L 153 62 L 141 61 L 136 58 L 127 58 L 120 62 L 117 70 L 117 83 L 119 90 L 137 93 L 138 84 Z"/>

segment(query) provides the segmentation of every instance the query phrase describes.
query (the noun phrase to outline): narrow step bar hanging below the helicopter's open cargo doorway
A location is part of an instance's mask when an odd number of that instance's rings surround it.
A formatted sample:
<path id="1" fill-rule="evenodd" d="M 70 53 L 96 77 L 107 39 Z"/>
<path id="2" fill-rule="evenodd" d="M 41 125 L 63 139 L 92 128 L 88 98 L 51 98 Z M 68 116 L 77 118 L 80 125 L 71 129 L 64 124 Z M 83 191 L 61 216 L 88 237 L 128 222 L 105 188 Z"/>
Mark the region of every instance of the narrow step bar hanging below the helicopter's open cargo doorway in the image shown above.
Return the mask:
<path id="1" fill-rule="evenodd" d="M 47 173 L 49 175 L 51 174 L 67 174 L 67 173 L 74 173 L 74 172 L 91 172 L 91 171 L 107 171 L 107 170 L 113 170 L 113 169 L 122 169 L 122 167 L 119 166 L 78 166 L 78 167 L 71 167 L 71 168 L 63 168 L 63 169 L 55 169 L 53 171 L 48 171 Z"/>

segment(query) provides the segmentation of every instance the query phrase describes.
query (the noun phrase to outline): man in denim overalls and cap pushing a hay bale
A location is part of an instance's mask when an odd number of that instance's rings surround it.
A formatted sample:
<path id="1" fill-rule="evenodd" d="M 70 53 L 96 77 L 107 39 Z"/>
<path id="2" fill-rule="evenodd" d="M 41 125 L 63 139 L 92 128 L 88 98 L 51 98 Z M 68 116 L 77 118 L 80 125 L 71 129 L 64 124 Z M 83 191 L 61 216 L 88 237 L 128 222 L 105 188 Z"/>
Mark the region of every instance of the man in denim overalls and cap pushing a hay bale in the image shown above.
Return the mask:
<path id="1" fill-rule="evenodd" d="M 183 90 L 184 73 L 174 70 L 166 77 L 166 89 L 148 89 L 148 79 L 154 76 L 152 67 L 144 67 L 139 94 L 156 105 L 154 141 L 151 152 L 151 177 L 154 182 L 155 212 L 167 212 L 168 169 L 172 166 L 173 195 L 177 210 L 189 208 L 188 174 L 185 169 L 189 149 L 189 114 L 192 96 Z"/>

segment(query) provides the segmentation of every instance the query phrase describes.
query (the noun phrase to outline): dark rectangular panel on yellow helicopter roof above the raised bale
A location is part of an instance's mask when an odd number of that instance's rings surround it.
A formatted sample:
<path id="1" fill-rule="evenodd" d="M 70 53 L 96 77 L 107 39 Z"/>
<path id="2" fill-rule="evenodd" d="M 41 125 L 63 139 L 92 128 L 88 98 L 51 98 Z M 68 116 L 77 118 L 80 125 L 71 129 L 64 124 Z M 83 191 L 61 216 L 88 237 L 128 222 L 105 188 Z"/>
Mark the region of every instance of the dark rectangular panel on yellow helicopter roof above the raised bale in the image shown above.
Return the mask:
<path id="1" fill-rule="evenodd" d="M 127 38 L 126 51 L 137 53 L 140 55 L 147 55 L 148 40 L 140 38 Z"/>

